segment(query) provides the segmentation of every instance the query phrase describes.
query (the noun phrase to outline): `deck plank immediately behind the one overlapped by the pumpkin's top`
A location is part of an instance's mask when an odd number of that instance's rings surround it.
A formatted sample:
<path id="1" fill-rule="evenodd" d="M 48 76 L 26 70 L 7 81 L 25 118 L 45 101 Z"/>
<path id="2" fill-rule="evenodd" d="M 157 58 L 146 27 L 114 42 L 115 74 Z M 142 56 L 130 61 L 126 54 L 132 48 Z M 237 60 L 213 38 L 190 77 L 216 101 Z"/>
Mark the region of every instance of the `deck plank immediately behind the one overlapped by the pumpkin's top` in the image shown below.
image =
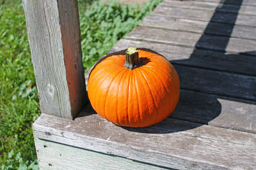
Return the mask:
<path id="1" fill-rule="evenodd" d="M 150 27 L 136 27 L 127 39 L 152 41 L 168 45 L 196 47 L 218 52 L 236 52 L 256 55 L 256 41 L 251 39 L 228 38 L 224 36 L 201 35 L 193 32 L 172 31 Z"/>

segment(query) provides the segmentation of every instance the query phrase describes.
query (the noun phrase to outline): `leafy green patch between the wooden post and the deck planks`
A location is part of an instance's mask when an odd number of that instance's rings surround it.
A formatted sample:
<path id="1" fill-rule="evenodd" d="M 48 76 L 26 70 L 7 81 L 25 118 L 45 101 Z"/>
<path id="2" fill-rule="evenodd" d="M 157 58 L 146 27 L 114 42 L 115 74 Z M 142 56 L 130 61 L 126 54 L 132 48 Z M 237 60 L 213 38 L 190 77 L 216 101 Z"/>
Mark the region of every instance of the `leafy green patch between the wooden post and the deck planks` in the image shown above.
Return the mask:
<path id="1" fill-rule="evenodd" d="M 161 0 L 150 1 L 139 8 L 111 1 L 95 1 L 90 10 L 80 12 L 83 64 L 88 69 L 106 55 L 120 38 L 124 38 Z"/>

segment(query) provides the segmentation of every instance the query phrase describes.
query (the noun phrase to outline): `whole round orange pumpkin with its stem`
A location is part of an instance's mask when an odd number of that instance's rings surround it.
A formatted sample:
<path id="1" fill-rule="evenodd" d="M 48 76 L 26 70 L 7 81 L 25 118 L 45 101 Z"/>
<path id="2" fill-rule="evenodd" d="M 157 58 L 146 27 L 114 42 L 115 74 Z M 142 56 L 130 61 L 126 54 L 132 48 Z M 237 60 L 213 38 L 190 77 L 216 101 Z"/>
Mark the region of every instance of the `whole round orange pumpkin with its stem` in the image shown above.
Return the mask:
<path id="1" fill-rule="evenodd" d="M 93 109 L 116 125 L 146 127 L 168 117 L 179 101 L 175 68 L 147 48 L 129 47 L 97 62 L 90 72 Z"/>

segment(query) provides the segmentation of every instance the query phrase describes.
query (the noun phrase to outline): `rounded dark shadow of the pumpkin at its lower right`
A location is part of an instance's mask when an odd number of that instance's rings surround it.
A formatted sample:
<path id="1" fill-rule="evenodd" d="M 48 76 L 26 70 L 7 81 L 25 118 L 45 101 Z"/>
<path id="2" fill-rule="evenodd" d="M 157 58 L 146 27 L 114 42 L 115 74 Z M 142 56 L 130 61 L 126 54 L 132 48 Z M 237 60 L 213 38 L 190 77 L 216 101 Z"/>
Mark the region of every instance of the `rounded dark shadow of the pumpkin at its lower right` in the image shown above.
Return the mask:
<path id="1" fill-rule="evenodd" d="M 180 99 L 173 113 L 162 122 L 150 127 L 122 127 L 127 131 L 165 134 L 195 129 L 218 117 L 221 104 L 215 95 L 180 91 Z M 180 121 L 181 120 L 181 121 Z"/>

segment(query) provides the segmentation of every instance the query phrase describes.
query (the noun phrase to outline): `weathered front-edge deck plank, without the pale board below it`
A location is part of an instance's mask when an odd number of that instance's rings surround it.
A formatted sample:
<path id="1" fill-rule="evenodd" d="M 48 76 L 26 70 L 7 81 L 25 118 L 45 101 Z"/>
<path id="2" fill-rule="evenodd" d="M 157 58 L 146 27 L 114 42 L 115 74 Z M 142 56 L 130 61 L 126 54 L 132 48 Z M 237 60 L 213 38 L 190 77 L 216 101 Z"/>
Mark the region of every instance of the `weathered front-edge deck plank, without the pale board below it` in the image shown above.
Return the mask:
<path id="1" fill-rule="evenodd" d="M 42 114 L 33 124 L 34 135 L 40 139 L 170 168 L 256 168 L 255 134 L 171 118 L 157 124 L 159 127 L 126 129 L 91 114 L 90 109 L 84 110 L 83 115 L 74 121 Z M 184 131 L 184 125 L 187 125 L 187 131 Z M 237 139 L 246 143 L 236 143 Z"/>

